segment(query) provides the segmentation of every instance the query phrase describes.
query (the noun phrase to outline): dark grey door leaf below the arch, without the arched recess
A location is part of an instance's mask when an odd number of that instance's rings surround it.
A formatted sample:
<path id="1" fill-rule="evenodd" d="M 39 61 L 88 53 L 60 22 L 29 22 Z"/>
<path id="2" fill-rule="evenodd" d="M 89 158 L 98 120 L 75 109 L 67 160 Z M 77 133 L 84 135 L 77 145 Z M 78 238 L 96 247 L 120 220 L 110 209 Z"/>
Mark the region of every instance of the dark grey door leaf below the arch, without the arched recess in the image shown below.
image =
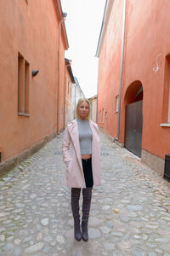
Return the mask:
<path id="1" fill-rule="evenodd" d="M 133 102 L 126 107 L 125 148 L 141 157 L 142 103 Z"/>

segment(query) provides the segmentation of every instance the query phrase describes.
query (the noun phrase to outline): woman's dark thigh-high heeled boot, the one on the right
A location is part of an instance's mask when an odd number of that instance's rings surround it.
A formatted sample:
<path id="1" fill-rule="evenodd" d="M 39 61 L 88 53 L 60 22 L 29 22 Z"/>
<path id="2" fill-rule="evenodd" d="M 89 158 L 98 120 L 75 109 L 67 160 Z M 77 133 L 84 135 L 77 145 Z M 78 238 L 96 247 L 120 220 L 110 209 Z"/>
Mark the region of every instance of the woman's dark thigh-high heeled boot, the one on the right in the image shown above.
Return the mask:
<path id="1" fill-rule="evenodd" d="M 90 205 L 92 199 L 92 189 L 82 189 L 82 240 L 88 241 L 88 217 L 90 212 Z"/>

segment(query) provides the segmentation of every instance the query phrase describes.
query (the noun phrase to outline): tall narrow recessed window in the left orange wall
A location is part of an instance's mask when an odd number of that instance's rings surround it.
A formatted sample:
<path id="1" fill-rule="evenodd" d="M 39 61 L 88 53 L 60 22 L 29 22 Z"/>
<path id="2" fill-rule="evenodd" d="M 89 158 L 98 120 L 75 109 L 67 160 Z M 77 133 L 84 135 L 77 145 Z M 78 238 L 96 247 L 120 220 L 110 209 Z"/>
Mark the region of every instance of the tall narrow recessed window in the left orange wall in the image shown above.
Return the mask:
<path id="1" fill-rule="evenodd" d="M 30 65 L 18 55 L 18 114 L 29 116 Z"/>

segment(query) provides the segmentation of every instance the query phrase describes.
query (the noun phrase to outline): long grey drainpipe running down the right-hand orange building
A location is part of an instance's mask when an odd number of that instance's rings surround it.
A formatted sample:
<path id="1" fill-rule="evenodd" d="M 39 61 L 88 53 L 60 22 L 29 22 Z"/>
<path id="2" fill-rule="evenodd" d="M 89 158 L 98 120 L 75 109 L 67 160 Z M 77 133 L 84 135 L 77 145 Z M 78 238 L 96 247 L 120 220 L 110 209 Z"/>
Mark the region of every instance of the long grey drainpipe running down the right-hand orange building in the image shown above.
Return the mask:
<path id="1" fill-rule="evenodd" d="M 121 95 L 122 95 L 122 72 L 123 72 L 123 57 L 124 57 L 124 39 L 125 39 L 125 24 L 126 24 L 126 9 L 127 0 L 124 0 L 123 7 L 123 18 L 122 18 L 122 53 L 121 53 L 121 74 L 120 74 L 120 84 L 119 84 L 119 104 L 118 104 L 118 117 L 117 117 L 117 134 L 116 141 L 119 140 L 120 133 L 120 116 L 121 116 Z"/>

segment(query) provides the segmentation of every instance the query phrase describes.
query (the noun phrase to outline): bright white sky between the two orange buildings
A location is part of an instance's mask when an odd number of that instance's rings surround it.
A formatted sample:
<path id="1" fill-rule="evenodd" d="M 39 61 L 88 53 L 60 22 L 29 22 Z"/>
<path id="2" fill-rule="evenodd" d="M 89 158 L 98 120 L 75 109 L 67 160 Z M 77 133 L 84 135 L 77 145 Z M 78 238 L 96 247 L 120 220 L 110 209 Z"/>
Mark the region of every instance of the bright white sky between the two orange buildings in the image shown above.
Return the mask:
<path id="1" fill-rule="evenodd" d="M 69 49 L 65 51 L 65 58 L 71 60 L 73 75 L 89 98 L 97 94 L 99 59 L 95 54 L 105 0 L 61 0 L 61 5 L 67 13 L 65 27 Z"/>

